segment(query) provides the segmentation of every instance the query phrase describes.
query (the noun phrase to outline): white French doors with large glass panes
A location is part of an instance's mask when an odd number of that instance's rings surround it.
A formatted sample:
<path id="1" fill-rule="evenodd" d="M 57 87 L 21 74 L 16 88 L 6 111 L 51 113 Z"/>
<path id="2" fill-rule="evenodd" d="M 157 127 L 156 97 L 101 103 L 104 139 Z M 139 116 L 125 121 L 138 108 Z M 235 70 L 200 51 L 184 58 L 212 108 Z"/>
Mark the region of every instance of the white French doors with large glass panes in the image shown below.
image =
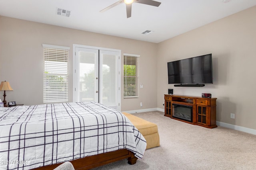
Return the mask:
<path id="1" fill-rule="evenodd" d="M 98 102 L 120 111 L 120 51 L 73 49 L 73 102 Z"/>

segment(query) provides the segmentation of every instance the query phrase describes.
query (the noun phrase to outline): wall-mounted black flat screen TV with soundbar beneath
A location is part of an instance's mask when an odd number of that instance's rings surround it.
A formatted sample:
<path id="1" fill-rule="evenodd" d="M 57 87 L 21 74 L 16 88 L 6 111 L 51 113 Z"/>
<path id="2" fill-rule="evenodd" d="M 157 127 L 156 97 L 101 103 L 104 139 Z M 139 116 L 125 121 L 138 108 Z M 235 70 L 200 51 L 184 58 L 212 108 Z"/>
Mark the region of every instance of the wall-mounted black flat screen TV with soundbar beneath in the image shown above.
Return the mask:
<path id="1" fill-rule="evenodd" d="M 168 84 L 212 83 L 212 54 L 167 63 Z"/>

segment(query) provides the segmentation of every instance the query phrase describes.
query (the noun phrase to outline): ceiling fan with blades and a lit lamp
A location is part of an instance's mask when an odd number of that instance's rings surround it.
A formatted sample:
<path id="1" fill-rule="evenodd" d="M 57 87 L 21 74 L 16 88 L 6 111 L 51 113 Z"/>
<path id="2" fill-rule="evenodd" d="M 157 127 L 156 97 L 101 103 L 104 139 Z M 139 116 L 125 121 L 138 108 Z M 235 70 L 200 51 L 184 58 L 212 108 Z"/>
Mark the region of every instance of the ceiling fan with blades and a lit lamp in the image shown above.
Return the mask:
<path id="1" fill-rule="evenodd" d="M 133 2 L 151 5 L 151 6 L 157 6 L 157 7 L 161 4 L 161 2 L 157 2 L 154 0 L 119 0 L 118 2 L 104 8 L 100 12 L 105 12 L 106 10 L 109 10 L 110 8 L 113 8 L 119 4 L 125 3 L 126 4 L 126 15 L 127 15 L 127 18 L 130 18 L 132 16 L 132 3 Z"/>

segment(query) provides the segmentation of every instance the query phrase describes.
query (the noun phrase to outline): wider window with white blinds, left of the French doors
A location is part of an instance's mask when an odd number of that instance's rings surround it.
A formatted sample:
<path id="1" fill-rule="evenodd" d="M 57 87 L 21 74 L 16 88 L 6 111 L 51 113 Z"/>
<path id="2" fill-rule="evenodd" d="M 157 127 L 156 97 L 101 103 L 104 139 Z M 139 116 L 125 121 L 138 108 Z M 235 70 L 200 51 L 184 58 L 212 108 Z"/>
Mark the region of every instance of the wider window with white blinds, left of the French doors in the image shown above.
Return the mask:
<path id="1" fill-rule="evenodd" d="M 68 50 L 69 47 L 44 47 L 43 102 L 68 102 Z"/>

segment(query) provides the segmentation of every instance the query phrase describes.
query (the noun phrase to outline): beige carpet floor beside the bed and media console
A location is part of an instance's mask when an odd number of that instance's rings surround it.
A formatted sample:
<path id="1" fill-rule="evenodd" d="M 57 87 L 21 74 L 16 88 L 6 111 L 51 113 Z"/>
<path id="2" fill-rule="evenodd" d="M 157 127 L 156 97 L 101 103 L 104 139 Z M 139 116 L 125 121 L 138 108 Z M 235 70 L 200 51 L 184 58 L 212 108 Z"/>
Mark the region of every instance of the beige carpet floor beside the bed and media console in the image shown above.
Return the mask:
<path id="1" fill-rule="evenodd" d="M 94 170 L 256 170 L 256 135 L 190 125 L 160 111 L 134 115 L 158 125 L 160 147 L 134 165 L 120 160 Z"/>

